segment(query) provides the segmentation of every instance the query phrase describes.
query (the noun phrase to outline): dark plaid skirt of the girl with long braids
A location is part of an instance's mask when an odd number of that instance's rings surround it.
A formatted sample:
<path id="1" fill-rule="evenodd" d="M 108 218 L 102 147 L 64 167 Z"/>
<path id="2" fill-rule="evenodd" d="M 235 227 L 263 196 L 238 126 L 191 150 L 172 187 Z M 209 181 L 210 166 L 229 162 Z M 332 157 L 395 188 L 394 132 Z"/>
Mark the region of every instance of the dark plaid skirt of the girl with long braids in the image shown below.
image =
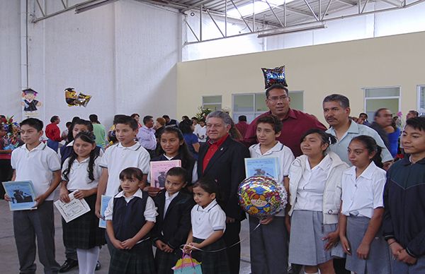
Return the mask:
<path id="1" fill-rule="evenodd" d="M 84 198 L 89 204 L 90 211 L 70 222 L 62 218 L 64 246 L 72 249 L 92 249 L 106 244 L 105 230 L 98 227 L 99 219 L 94 214 L 96 194 Z"/>

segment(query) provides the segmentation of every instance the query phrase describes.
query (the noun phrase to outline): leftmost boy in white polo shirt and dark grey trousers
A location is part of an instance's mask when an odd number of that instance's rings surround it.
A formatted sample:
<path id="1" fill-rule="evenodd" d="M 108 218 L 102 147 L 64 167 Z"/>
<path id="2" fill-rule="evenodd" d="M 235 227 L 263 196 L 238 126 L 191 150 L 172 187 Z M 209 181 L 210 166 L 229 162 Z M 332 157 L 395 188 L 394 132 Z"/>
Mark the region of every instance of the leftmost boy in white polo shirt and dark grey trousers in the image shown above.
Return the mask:
<path id="1" fill-rule="evenodd" d="M 28 118 L 21 122 L 21 138 L 25 145 L 13 150 L 12 181 L 33 181 L 37 209 L 13 211 L 13 233 L 18 249 L 21 273 L 35 273 L 35 239 L 38 258 L 44 273 L 57 273 L 60 266 L 55 260 L 55 223 L 53 191 L 60 183 L 60 161 L 54 150 L 40 142 L 42 121 Z M 11 201 L 5 196 L 6 201 Z"/>

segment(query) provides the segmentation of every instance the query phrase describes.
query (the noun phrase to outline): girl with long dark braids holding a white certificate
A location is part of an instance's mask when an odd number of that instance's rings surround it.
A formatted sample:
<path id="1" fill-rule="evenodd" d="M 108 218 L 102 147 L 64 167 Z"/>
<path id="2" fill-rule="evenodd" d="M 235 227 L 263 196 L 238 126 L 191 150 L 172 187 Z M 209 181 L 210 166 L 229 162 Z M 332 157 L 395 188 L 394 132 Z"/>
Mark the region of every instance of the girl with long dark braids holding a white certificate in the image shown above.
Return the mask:
<path id="1" fill-rule="evenodd" d="M 101 177 L 100 158 L 97 157 L 93 133 L 78 133 L 73 148 L 62 167 L 60 200 L 69 203 L 69 193 L 77 191 L 74 198 L 84 198 L 91 210 L 70 222 L 62 219 L 64 246 L 77 249 L 79 273 L 92 274 L 100 246 L 105 244 L 105 231 L 98 227 L 98 218 L 94 214 L 98 179 Z"/>

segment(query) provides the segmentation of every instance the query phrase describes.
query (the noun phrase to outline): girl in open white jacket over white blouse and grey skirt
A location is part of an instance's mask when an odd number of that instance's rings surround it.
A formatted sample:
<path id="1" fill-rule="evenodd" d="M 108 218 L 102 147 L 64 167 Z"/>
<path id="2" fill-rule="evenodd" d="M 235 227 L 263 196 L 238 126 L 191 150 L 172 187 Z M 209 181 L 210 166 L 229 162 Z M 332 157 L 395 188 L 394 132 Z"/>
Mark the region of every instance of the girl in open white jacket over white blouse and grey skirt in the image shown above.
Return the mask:
<path id="1" fill-rule="evenodd" d="M 333 274 L 333 256 L 344 256 L 337 224 L 341 177 L 348 165 L 328 151 L 335 142 L 334 136 L 310 129 L 301 139 L 303 155 L 289 170 L 289 262 L 304 266 L 305 273 Z"/>

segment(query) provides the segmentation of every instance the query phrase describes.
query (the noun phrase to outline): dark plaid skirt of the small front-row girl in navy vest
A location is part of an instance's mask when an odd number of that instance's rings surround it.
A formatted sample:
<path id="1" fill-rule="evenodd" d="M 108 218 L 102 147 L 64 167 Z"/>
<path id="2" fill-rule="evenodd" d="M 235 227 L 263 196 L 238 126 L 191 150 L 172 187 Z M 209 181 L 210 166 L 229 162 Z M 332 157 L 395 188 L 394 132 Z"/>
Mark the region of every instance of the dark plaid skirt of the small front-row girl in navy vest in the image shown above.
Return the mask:
<path id="1" fill-rule="evenodd" d="M 152 241 L 147 239 L 132 249 L 115 249 L 111 254 L 109 274 L 156 274 Z"/>

